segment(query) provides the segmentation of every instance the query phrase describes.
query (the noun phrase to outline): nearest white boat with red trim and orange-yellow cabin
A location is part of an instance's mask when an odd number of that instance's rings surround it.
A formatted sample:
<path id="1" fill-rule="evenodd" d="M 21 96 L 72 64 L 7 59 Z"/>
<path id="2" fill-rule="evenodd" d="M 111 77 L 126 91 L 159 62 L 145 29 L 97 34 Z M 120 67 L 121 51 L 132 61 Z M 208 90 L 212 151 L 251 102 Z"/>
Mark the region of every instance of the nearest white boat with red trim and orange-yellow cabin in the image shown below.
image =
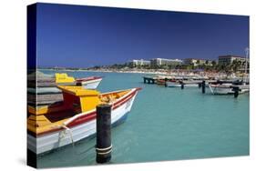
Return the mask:
<path id="1" fill-rule="evenodd" d="M 66 146 L 96 134 L 96 106 L 112 105 L 111 124 L 124 121 L 141 88 L 99 94 L 81 86 L 58 85 L 63 91 L 61 104 L 28 106 L 27 145 L 36 154 Z"/>

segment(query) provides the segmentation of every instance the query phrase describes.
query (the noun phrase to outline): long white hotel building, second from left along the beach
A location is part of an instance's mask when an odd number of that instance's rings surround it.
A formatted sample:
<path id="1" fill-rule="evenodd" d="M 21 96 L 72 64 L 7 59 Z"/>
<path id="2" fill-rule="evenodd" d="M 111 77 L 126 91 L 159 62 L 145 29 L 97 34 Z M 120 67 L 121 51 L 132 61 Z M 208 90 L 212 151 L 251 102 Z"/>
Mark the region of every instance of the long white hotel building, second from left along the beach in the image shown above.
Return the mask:
<path id="1" fill-rule="evenodd" d="M 150 60 L 150 65 L 152 67 L 159 67 L 162 65 L 175 66 L 181 65 L 182 60 L 180 59 L 164 59 L 164 58 L 154 58 Z"/>

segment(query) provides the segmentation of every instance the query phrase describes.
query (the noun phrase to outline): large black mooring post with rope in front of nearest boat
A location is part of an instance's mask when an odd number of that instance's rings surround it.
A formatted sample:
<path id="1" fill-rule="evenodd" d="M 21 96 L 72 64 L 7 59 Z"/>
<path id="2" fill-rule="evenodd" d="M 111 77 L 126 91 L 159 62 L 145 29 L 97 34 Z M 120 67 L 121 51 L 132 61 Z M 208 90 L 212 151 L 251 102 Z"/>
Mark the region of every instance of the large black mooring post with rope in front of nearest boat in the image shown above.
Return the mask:
<path id="1" fill-rule="evenodd" d="M 111 159 L 111 106 L 97 106 L 97 163 L 107 163 Z"/>

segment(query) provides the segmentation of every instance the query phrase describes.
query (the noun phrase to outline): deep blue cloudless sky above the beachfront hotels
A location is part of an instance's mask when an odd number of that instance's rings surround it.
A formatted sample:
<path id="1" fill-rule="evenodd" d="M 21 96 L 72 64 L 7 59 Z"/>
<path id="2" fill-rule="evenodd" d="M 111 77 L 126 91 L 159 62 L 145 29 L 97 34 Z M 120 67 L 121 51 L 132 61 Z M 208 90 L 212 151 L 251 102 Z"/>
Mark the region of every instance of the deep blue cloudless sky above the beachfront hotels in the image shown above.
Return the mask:
<path id="1" fill-rule="evenodd" d="M 249 46 L 249 16 L 38 4 L 36 19 L 39 66 L 217 59 Z"/>

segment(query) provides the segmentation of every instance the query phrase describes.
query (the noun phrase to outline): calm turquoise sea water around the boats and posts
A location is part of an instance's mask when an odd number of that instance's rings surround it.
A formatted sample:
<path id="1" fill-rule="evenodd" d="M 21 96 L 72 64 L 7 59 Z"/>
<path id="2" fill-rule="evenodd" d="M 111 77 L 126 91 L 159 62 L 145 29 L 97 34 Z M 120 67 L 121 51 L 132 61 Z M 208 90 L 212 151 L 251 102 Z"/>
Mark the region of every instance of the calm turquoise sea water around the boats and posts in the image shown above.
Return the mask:
<path id="1" fill-rule="evenodd" d="M 111 164 L 249 155 L 249 94 L 202 95 L 199 88 L 143 84 L 140 74 L 67 74 L 104 76 L 101 92 L 143 88 L 127 121 L 112 129 Z M 91 138 L 39 156 L 38 167 L 97 165 L 95 145 Z"/>

